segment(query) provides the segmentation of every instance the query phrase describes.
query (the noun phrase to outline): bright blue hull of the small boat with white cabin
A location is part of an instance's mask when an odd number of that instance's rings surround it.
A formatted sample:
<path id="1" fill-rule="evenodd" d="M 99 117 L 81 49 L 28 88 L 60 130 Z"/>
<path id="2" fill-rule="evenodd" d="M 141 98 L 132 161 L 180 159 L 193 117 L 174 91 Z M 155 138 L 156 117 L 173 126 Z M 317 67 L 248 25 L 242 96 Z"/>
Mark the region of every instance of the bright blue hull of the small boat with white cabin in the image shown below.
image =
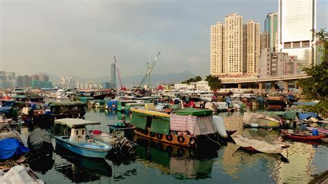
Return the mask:
<path id="1" fill-rule="evenodd" d="M 80 145 L 75 145 L 72 142 L 63 140 L 62 137 L 55 137 L 55 140 L 56 140 L 56 144 L 61 145 L 66 149 L 69 149 L 69 151 L 72 151 L 75 154 L 79 154 L 86 157 L 105 158 L 108 152 L 110 151 L 110 149 L 92 149 L 88 147 L 82 147 Z"/>

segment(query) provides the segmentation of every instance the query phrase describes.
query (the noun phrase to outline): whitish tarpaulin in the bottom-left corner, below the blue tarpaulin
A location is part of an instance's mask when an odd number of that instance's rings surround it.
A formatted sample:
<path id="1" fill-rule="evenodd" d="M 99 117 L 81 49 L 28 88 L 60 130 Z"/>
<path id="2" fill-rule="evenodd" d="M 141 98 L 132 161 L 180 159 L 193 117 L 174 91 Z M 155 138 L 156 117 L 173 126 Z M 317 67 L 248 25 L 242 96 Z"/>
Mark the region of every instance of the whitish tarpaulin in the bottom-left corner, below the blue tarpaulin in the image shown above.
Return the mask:
<path id="1" fill-rule="evenodd" d="M 26 171 L 26 167 L 22 165 L 17 165 L 12 167 L 6 174 L 0 176 L 0 183 L 35 183 L 41 184 L 44 183 L 40 179 L 32 178 Z"/>

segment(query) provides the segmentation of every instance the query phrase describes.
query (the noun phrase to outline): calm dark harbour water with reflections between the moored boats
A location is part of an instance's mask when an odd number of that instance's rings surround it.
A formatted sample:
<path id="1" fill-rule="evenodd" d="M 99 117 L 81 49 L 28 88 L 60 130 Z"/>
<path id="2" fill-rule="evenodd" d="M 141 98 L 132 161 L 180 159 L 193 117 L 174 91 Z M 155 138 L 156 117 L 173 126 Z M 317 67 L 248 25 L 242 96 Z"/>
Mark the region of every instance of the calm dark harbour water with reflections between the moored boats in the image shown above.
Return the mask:
<path id="1" fill-rule="evenodd" d="M 219 113 L 226 129 L 247 138 L 274 142 L 278 131 L 243 129 L 242 112 Z M 121 113 L 91 109 L 86 120 L 101 122 L 89 127 L 108 131 Z M 128 118 L 128 117 L 125 117 Z M 28 128 L 22 128 L 27 138 Z M 53 127 L 47 130 L 53 140 Z M 282 155 L 247 154 L 233 143 L 206 156 L 194 156 L 188 150 L 170 150 L 163 145 L 138 140 L 135 160 L 92 160 L 56 147 L 53 160 L 30 163 L 45 183 L 308 183 L 314 174 L 328 169 L 328 145 L 320 142 L 291 142 Z"/>

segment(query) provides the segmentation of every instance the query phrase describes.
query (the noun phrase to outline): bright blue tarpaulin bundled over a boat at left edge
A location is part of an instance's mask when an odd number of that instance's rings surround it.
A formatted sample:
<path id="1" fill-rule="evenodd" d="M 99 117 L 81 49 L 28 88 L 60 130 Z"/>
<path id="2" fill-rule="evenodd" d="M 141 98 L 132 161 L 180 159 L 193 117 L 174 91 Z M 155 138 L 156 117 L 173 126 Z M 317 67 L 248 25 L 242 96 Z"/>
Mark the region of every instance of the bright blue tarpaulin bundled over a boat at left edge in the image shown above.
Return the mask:
<path id="1" fill-rule="evenodd" d="M 28 147 L 25 147 L 23 143 L 16 138 L 5 138 L 0 140 L 0 160 L 21 156 L 28 151 Z"/>

